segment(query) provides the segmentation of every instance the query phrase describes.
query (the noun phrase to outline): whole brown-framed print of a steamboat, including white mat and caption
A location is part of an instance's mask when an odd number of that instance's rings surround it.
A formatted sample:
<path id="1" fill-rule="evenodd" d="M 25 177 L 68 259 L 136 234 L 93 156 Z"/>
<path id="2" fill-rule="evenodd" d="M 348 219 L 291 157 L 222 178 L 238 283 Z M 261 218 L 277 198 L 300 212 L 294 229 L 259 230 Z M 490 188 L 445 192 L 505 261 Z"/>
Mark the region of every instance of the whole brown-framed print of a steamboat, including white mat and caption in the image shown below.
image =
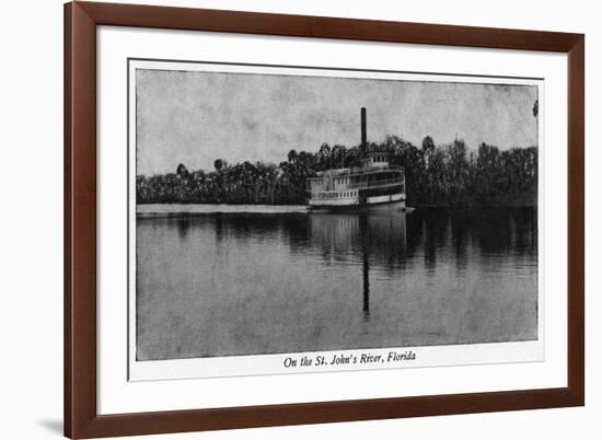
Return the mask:
<path id="1" fill-rule="evenodd" d="M 65 35 L 66 436 L 583 404 L 583 35 Z"/>

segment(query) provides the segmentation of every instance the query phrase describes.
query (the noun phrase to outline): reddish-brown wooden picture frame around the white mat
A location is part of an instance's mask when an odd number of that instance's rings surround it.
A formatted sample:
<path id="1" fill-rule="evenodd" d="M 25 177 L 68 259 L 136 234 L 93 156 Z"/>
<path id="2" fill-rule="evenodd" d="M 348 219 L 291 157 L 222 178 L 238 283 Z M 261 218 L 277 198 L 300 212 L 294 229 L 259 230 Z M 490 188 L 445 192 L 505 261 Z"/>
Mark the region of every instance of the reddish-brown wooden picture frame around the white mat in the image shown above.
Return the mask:
<path id="1" fill-rule="evenodd" d="M 139 414 L 96 413 L 96 26 L 556 51 L 568 55 L 568 386 Z M 65 5 L 65 435 L 70 438 L 485 413 L 584 404 L 584 36 L 71 2 Z"/>

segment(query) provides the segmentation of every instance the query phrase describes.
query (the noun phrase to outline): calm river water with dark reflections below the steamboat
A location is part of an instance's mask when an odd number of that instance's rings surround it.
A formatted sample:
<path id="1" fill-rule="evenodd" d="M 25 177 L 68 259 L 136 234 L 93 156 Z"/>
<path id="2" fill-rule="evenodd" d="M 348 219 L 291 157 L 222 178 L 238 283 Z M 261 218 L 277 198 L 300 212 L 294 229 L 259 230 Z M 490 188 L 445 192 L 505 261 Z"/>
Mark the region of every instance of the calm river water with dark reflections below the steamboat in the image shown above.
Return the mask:
<path id="1" fill-rule="evenodd" d="M 139 217 L 139 360 L 537 338 L 533 208 Z"/>

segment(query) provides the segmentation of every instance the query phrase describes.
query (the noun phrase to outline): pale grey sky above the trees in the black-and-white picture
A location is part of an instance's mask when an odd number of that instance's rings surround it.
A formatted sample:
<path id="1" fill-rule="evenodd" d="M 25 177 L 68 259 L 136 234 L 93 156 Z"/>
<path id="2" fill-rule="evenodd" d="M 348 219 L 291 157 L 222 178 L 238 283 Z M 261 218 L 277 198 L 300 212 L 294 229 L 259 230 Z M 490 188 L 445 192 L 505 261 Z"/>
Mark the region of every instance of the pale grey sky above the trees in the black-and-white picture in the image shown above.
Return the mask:
<path id="1" fill-rule="evenodd" d="M 464 139 L 505 150 L 537 144 L 535 85 L 348 79 L 280 74 L 136 72 L 137 174 L 212 170 L 216 159 L 280 163 L 291 149 L 389 135 L 417 147 Z"/>

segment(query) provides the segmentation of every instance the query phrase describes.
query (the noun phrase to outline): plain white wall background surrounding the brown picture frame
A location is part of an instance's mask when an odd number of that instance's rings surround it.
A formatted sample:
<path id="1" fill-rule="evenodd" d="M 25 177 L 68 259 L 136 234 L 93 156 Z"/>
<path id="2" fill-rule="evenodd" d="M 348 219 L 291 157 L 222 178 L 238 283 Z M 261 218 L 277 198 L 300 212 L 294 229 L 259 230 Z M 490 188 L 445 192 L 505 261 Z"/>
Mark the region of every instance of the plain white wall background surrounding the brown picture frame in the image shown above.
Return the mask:
<path id="1" fill-rule="evenodd" d="M 124 0 L 125 1 L 125 0 Z M 140 1 L 136 1 L 140 2 Z M 149 0 L 147 3 L 586 33 L 587 406 L 264 428 L 174 439 L 594 439 L 602 414 L 602 26 L 572 0 Z M 0 438 L 60 438 L 62 426 L 62 1 L 0 3 Z M 597 99 L 598 97 L 598 99 Z"/>

